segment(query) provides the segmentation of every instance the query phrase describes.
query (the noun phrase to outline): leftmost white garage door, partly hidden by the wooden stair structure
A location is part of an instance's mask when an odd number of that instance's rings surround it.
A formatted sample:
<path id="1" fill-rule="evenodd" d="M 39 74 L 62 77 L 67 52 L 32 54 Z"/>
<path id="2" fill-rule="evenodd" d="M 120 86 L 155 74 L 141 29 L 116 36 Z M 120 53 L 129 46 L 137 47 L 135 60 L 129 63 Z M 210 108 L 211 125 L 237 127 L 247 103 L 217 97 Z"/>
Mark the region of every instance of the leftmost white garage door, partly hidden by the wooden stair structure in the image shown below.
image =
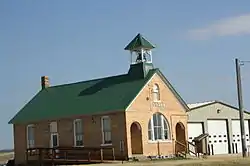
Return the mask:
<path id="1" fill-rule="evenodd" d="M 188 141 L 192 142 L 192 140 L 203 134 L 202 123 L 188 123 Z"/>

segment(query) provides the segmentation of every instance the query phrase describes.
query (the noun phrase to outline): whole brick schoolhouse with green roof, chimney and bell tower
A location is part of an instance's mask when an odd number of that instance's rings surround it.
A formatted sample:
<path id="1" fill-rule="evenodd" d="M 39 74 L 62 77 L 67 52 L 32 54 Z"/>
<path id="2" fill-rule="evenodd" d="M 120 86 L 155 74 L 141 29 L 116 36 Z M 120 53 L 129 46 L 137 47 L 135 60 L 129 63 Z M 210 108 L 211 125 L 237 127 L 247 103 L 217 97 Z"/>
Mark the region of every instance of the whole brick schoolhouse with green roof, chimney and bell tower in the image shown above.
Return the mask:
<path id="1" fill-rule="evenodd" d="M 41 90 L 10 120 L 15 162 L 31 147 L 113 146 L 126 158 L 175 154 L 187 140 L 188 107 L 152 64 L 154 49 L 138 34 L 125 48 L 131 53 L 126 74 L 50 86 Z"/>

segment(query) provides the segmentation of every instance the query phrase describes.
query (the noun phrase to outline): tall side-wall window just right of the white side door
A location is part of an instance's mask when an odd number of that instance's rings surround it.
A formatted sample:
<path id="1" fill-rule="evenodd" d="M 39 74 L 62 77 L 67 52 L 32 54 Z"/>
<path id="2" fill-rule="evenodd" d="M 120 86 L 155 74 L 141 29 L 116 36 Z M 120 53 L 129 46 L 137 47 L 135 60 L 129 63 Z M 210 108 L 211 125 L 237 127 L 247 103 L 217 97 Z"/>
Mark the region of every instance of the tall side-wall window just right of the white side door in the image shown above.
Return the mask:
<path id="1" fill-rule="evenodd" d="M 83 146 L 83 127 L 82 120 L 74 120 L 74 145 Z"/>

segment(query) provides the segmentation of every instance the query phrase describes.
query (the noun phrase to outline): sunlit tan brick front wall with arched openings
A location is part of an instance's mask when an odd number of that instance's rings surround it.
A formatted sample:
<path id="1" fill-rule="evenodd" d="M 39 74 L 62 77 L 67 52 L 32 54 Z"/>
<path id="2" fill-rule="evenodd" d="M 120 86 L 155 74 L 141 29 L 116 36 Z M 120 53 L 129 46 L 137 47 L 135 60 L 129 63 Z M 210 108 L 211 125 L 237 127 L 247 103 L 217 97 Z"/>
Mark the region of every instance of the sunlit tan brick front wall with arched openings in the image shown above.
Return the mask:
<path id="1" fill-rule="evenodd" d="M 159 85 L 161 103 L 165 105 L 165 108 L 159 108 L 153 105 L 151 91 L 155 83 Z M 168 120 L 172 139 L 176 138 L 175 126 L 178 122 L 183 123 L 185 126 L 185 137 L 187 139 L 187 115 L 185 109 L 156 74 L 126 111 L 129 156 L 132 155 L 130 126 L 135 121 L 138 122 L 142 128 L 143 155 L 169 155 L 174 153 L 175 144 L 173 140 L 160 142 L 159 144 L 148 141 L 148 122 L 156 112 L 160 112 Z"/>

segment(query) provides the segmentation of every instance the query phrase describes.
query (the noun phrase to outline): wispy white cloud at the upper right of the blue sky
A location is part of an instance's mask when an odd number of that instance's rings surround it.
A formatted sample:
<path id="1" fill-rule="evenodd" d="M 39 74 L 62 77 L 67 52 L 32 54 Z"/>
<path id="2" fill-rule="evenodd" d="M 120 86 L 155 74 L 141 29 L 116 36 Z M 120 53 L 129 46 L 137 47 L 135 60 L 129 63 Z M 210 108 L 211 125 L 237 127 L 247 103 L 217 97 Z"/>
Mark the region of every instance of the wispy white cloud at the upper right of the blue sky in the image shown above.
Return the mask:
<path id="1" fill-rule="evenodd" d="M 204 28 L 192 29 L 188 32 L 192 39 L 197 40 L 246 34 L 250 34 L 250 14 L 221 19 Z"/>

